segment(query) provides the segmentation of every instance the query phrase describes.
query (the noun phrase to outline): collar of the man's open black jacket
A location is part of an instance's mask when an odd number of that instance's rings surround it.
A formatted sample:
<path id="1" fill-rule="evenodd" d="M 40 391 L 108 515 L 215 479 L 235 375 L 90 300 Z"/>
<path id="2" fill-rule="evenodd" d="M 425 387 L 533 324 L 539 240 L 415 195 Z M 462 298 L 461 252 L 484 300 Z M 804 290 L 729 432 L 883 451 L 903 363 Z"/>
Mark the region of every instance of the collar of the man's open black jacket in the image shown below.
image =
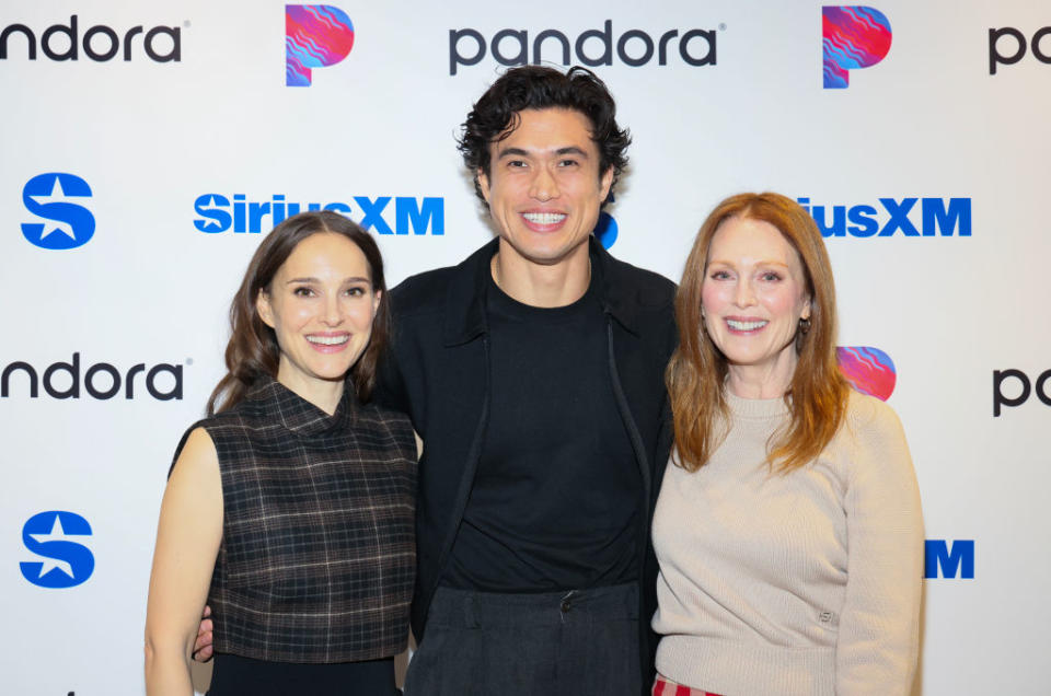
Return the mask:
<path id="1" fill-rule="evenodd" d="M 465 344 L 488 332 L 485 321 L 487 274 L 489 260 L 498 246 L 499 237 L 496 237 L 453 269 L 446 292 L 442 327 L 442 343 L 446 346 Z M 637 335 L 639 289 L 626 277 L 625 264 L 602 248 L 593 234 L 588 237 L 588 253 L 591 256 L 593 280 L 599 283 L 602 311 Z"/>

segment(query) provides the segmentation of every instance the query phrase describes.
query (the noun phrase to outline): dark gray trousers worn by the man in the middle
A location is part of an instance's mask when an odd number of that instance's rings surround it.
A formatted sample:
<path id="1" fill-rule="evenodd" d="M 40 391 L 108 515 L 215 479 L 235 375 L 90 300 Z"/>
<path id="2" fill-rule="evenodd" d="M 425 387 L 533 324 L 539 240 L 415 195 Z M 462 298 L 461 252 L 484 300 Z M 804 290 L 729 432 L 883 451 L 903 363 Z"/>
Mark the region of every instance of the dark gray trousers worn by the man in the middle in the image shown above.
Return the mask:
<path id="1" fill-rule="evenodd" d="M 544 594 L 439 588 L 405 696 L 637 696 L 638 585 Z"/>

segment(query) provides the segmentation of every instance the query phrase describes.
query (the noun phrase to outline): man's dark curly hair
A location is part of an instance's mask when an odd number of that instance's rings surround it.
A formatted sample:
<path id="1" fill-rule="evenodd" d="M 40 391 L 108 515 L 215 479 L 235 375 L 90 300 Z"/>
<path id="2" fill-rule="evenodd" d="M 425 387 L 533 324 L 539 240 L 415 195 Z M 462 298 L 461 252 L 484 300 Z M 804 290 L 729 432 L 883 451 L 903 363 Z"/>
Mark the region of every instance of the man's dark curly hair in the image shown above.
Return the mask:
<path id="1" fill-rule="evenodd" d="M 627 129 L 616 125 L 613 96 L 593 72 L 575 67 L 563 73 L 554 68 L 511 68 L 482 95 L 461 127 L 458 146 L 463 163 L 474 174 L 474 193 L 485 202 L 478 170 L 489 176 L 489 144 L 507 138 L 527 108 L 570 108 L 591 121 L 591 140 L 599 147 L 599 175 L 613 167 L 613 186 L 627 164 L 624 151 L 632 142 Z M 603 201 L 602 205 L 605 205 Z"/>

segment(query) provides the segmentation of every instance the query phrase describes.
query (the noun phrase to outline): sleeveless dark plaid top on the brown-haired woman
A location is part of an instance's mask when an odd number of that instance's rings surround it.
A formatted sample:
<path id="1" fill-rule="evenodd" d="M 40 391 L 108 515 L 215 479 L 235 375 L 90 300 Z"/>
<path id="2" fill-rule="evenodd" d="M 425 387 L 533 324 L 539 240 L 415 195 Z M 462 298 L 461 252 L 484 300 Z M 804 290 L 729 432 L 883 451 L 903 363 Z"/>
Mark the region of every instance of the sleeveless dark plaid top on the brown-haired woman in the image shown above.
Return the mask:
<path id="1" fill-rule="evenodd" d="M 347 388 L 328 416 L 266 379 L 199 424 L 222 477 L 216 651 L 332 663 L 404 650 L 416 443 L 405 416 L 356 401 Z"/>

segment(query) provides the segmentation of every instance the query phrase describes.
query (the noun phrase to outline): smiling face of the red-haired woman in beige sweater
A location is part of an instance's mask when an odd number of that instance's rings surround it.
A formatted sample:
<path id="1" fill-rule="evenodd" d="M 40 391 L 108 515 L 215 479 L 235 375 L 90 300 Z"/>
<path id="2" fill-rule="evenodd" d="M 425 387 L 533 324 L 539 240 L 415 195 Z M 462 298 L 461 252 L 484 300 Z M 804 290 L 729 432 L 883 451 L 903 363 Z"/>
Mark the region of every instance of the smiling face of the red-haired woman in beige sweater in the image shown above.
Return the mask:
<path id="1" fill-rule="evenodd" d="M 708 247 L 701 306 L 731 381 L 783 394 L 795 372 L 794 341 L 799 320 L 810 317 L 810 298 L 799 254 L 777 228 L 740 217 L 719 225 Z"/>

